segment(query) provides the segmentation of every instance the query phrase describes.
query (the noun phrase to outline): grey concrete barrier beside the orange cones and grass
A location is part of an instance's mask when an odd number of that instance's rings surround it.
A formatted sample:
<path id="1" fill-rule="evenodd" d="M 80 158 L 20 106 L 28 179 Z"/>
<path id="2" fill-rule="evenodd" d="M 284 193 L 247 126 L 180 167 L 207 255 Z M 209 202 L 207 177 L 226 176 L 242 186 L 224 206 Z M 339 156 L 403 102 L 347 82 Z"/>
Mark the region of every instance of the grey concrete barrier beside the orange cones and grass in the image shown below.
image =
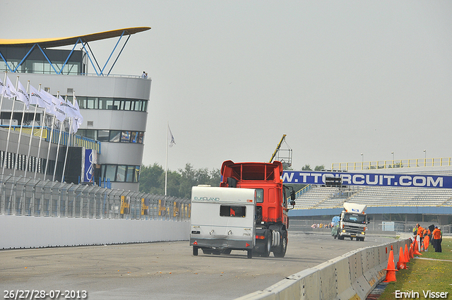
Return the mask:
<path id="1" fill-rule="evenodd" d="M 410 243 L 410 239 L 403 239 L 350 251 L 237 300 L 364 300 L 385 279 L 383 269 L 388 266 L 391 247 L 397 265 L 400 247 L 405 249 Z"/>

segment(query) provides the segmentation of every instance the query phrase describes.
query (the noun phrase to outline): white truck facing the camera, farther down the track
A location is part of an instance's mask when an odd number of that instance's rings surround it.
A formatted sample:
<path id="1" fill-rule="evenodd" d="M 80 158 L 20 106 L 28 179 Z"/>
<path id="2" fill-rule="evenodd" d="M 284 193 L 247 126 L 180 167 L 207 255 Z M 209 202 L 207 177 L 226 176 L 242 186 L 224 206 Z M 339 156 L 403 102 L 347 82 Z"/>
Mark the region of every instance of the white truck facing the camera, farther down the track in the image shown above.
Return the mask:
<path id="1" fill-rule="evenodd" d="M 369 224 L 364 212 L 367 205 L 357 203 L 344 203 L 344 210 L 340 213 L 340 221 L 332 230 L 334 238 L 344 239 L 345 236 L 352 240 L 364 241 L 366 226 Z"/>

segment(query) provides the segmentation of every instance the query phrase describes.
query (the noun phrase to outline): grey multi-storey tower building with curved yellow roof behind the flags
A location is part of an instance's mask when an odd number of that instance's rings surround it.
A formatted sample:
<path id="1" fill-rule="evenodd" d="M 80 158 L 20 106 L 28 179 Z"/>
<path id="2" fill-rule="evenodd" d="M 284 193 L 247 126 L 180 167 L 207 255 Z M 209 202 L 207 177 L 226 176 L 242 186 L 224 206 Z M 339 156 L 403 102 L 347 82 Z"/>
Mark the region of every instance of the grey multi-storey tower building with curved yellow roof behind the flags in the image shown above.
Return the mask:
<path id="1" fill-rule="evenodd" d="M 70 102 L 75 95 L 83 116 L 83 124 L 76 133 L 78 138 L 73 138 L 69 144 L 68 152 L 72 158 L 63 166 L 68 143 L 64 134 L 69 131 L 69 121 L 66 119 L 66 123 L 61 127 L 63 130 L 59 143 L 63 148 L 59 149 L 57 158 L 58 140 L 50 140 L 47 134 L 51 131 L 51 118 L 44 114 L 44 109 L 38 109 L 34 125 L 35 128 L 41 128 L 41 131 L 46 130 L 47 138 L 44 138 L 40 145 L 40 151 L 38 138 L 32 138 L 30 152 L 30 129 L 28 135 L 23 131 L 21 140 L 17 136 L 20 125 L 23 128 L 32 126 L 34 107 L 30 106 L 29 110 L 25 110 L 23 118 L 23 104 L 16 101 L 13 107 L 13 101 L 5 98 L 0 107 L 0 167 L 6 169 L 4 174 L 14 173 L 16 176 L 32 178 L 37 173 L 37 178 L 41 179 L 83 183 L 86 180 L 83 179 L 81 170 L 84 168 L 80 166 L 80 162 L 87 158 L 83 153 L 82 158 L 73 157 L 77 157 L 77 153 L 85 149 L 92 149 L 95 155 L 90 165 L 93 169 L 90 184 L 105 184 L 125 191 L 138 191 L 151 80 L 144 73 L 136 76 L 116 75 L 112 73 L 112 69 L 131 35 L 146 30 L 150 28 L 125 28 L 64 38 L 0 39 L 0 71 L 4 72 L 0 73 L 1 80 L 6 78 L 6 73 L 11 83 L 16 83 L 18 77 L 24 86 L 29 81 L 34 88 L 40 86 L 52 95 L 57 95 L 58 92 Z M 105 39 L 115 39 L 117 42 L 102 65 L 97 61 L 90 43 Z M 9 128 L 11 143 L 7 147 L 6 136 Z M 59 127 L 55 126 L 54 136 L 59 136 L 57 128 Z M 36 136 L 36 133 L 34 134 Z M 39 136 L 39 133 L 37 135 Z M 18 152 L 16 148 L 19 148 Z M 50 152 L 48 156 L 47 152 Z M 27 155 L 32 163 L 27 164 L 28 169 L 25 170 Z M 19 163 L 13 163 L 15 160 Z M 55 164 L 56 172 L 52 168 Z M 47 171 L 43 172 L 45 166 Z"/>

